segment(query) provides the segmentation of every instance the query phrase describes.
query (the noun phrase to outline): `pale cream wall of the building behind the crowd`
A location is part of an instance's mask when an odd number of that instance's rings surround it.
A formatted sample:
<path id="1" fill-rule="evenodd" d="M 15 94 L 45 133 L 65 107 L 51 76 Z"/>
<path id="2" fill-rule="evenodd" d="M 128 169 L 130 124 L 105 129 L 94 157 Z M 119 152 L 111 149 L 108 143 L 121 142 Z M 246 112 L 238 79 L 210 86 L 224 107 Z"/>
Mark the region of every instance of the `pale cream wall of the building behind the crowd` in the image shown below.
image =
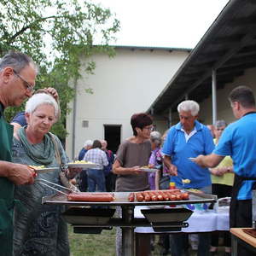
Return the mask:
<path id="1" fill-rule="evenodd" d="M 76 90 L 74 131 L 74 112 L 67 116 L 66 148 L 71 158 L 73 145 L 74 156 L 77 156 L 84 140 L 104 138 L 104 125 L 121 125 L 121 141 L 131 137 L 131 115 L 149 108 L 189 55 L 184 51 L 163 49 L 116 49 L 116 52 L 113 58 L 94 55 L 93 75 L 81 72 Z M 83 58 L 83 67 L 85 63 Z M 85 92 L 88 88 L 93 94 Z M 82 126 L 83 121 L 88 121 L 87 128 Z"/>

